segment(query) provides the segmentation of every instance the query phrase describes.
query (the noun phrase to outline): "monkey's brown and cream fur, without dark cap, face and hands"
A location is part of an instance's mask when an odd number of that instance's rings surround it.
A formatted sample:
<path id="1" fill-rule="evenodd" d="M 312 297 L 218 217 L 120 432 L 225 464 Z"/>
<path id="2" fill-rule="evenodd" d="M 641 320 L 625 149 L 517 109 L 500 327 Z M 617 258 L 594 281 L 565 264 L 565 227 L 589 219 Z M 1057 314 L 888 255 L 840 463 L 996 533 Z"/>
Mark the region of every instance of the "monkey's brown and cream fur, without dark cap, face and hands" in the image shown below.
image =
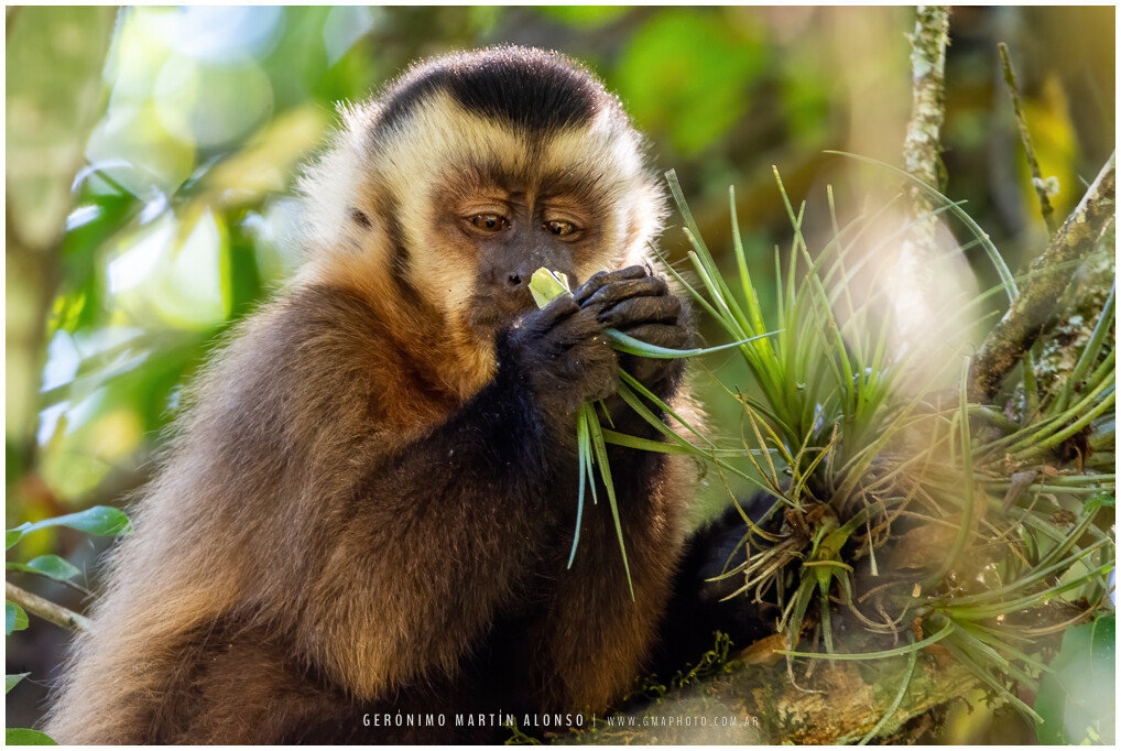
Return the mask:
<path id="1" fill-rule="evenodd" d="M 444 108 L 470 131 L 471 156 L 516 176 L 526 201 L 557 193 L 546 176 L 559 170 L 558 198 L 597 220 L 577 243 L 577 277 L 646 258 L 660 194 L 618 113 L 584 141 L 565 131 L 531 147 L 438 94 L 426 101 L 423 118 Z M 544 711 L 601 710 L 646 658 L 694 470 L 682 457 L 612 449 L 636 473 L 615 480 L 631 602 L 602 500 L 585 509 L 565 567 L 571 424 L 548 438 L 549 453 L 567 457 L 550 481 L 562 484 L 519 484 L 532 467 L 512 466 L 495 475 L 515 489 L 508 497 L 491 470 L 434 443 L 495 377 L 495 332 L 525 309 L 488 291 L 480 260 L 441 214 L 456 198 L 439 188 L 474 195 L 482 182 L 508 195 L 511 186 L 482 167 L 458 173 L 474 187 L 456 186 L 448 170 L 463 165 L 438 149 L 402 184 L 410 167 L 400 159 L 434 148 L 415 124 L 371 140 L 378 109 L 350 113 L 311 173 L 303 271 L 238 327 L 189 391 L 163 469 L 136 504 L 136 531 L 112 553 L 92 627 L 75 641 L 47 723 L 61 742 L 361 740 L 363 711 L 392 707 L 401 692 L 470 694 L 458 676 L 501 623 L 525 624 L 509 627 L 519 634 L 509 659 L 531 676 Z M 499 148 L 510 142 L 520 150 Z M 519 160 L 532 149 L 544 156 Z M 680 392 L 677 405 L 692 409 Z"/>

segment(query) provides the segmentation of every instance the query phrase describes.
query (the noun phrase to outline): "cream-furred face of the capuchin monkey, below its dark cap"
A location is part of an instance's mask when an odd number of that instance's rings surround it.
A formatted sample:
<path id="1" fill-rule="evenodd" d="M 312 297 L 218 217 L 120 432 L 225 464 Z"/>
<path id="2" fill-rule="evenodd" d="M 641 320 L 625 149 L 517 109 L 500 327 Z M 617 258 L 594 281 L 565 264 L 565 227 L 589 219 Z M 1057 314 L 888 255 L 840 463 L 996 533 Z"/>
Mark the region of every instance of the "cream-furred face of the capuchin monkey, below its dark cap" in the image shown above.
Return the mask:
<path id="1" fill-rule="evenodd" d="M 661 205 L 614 113 L 528 132 L 438 94 L 396 130 L 379 182 L 393 188 L 380 201 L 399 221 L 398 281 L 476 335 L 532 307 L 543 266 L 577 284 L 642 259 Z"/>

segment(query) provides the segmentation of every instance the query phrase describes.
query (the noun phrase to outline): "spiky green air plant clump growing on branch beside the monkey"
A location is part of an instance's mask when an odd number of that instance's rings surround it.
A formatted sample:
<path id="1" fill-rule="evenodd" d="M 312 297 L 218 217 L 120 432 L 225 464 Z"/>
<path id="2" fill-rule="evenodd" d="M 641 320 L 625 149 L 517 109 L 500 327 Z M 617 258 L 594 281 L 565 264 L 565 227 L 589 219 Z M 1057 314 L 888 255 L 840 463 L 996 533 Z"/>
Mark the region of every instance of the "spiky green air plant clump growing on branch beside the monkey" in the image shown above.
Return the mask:
<path id="1" fill-rule="evenodd" d="M 972 325 L 995 296 L 1013 300 L 1017 280 L 964 210 L 919 184 L 937 207 L 873 238 L 878 216 L 837 226 L 831 189 L 833 238 L 812 256 L 802 233 L 806 206 L 795 211 L 775 176 L 794 241 L 785 270 L 776 248 L 777 309 L 763 310 L 734 193 L 736 268 L 725 276 L 668 175 L 698 282 L 667 268 L 742 342 L 736 349 L 758 390 L 729 391 L 743 410 L 741 455 L 775 499 L 761 519 L 744 514 L 743 557 L 723 576 L 741 583 L 734 596 L 776 608 L 791 677 L 794 658 L 905 657 L 898 706 L 918 650 L 939 642 L 981 684 L 1043 722 L 1046 710 L 1028 706 L 1013 684 L 1039 688 L 1047 673 L 1039 638 L 1086 620 L 1110 592 L 1114 295 L 1069 377 L 1053 393 L 1021 396 L 1027 406 L 1011 419 L 1004 408 L 969 399 L 967 355 L 939 365 L 918 347 L 891 346 L 897 330 L 883 313 L 886 285 L 862 297 L 852 289 L 868 259 L 893 252 L 917 223 L 942 214 L 964 224 L 973 235 L 965 248 L 982 247 L 1002 282 L 944 304 L 924 336 L 938 341 Z M 776 335 L 758 337 L 768 326 Z M 1021 370 L 1035 389 L 1030 358 Z M 711 457 L 725 466 L 726 448 L 717 452 Z M 844 651 L 834 641 L 835 611 L 862 627 L 846 631 Z M 869 650 L 878 634 L 910 643 Z M 816 643 L 823 652 L 812 649 Z"/>

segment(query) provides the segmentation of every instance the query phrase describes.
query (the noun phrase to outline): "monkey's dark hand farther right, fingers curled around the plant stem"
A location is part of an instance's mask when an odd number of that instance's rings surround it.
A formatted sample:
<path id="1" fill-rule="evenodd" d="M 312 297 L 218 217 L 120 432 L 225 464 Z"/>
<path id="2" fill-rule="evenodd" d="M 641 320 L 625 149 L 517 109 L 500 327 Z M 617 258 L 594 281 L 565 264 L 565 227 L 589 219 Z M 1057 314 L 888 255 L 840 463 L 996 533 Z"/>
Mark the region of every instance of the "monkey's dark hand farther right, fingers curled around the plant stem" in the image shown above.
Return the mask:
<path id="1" fill-rule="evenodd" d="M 596 309 L 601 324 L 628 336 L 673 350 L 693 346 L 688 307 L 665 279 L 641 266 L 596 273 L 576 289 L 574 298 L 582 308 Z M 680 382 L 685 361 L 620 354 L 619 367 L 667 399 Z"/>

